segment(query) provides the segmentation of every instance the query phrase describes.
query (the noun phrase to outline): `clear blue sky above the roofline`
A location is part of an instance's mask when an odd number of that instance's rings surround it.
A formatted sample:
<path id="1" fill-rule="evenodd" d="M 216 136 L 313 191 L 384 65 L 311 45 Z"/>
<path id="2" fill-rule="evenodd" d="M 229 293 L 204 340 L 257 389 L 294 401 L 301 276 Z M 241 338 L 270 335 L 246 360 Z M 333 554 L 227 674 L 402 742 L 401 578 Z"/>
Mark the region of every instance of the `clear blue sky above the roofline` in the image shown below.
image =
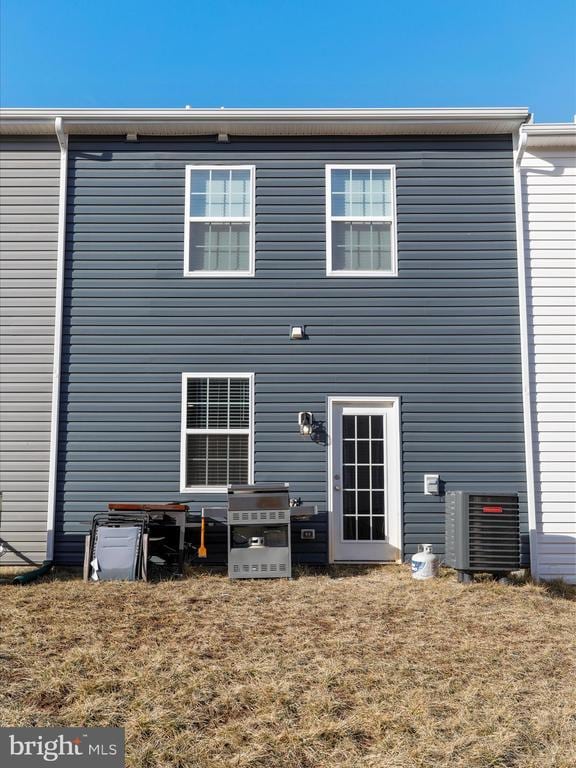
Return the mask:
<path id="1" fill-rule="evenodd" d="M 0 0 L 2 106 L 576 113 L 576 0 Z"/>

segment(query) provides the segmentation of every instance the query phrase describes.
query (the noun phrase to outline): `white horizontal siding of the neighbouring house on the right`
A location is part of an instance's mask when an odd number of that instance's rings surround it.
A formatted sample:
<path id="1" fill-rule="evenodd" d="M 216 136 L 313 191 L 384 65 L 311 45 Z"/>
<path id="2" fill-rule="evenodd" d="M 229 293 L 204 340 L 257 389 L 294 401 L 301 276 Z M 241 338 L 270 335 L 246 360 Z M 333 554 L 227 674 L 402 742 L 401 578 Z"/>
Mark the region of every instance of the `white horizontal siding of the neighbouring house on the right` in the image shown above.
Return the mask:
<path id="1" fill-rule="evenodd" d="M 576 583 L 576 153 L 522 161 L 539 575 Z"/>

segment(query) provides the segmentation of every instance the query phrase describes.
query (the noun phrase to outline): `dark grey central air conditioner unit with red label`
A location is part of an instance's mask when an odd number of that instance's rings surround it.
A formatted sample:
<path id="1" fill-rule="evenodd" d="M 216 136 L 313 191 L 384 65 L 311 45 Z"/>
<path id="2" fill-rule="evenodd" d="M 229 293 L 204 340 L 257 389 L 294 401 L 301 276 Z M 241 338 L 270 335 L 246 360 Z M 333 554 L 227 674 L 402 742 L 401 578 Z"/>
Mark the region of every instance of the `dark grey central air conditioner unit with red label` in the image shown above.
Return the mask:
<path id="1" fill-rule="evenodd" d="M 518 570 L 518 496 L 448 491 L 444 562 L 458 571 L 459 581 L 479 572 L 504 576 Z"/>

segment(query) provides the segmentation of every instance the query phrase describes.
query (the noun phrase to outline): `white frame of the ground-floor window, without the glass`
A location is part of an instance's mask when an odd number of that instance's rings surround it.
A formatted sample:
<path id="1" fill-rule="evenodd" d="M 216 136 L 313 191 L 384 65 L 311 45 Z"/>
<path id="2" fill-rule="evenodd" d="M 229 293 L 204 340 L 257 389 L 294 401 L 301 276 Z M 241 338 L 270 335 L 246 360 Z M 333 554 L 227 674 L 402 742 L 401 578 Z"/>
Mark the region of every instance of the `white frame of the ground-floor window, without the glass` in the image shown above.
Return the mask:
<path id="1" fill-rule="evenodd" d="M 248 379 L 249 382 L 249 407 L 250 417 L 248 429 L 188 429 L 186 427 L 187 416 L 187 390 L 189 379 Z M 186 485 L 186 436 L 188 434 L 248 434 L 248 482 L 254 483 L 254 374 L 253 373 L 228 373 L 225 371 L 209 373 L 183 373 L 182 374 L 182 401 L 180 416 L 180 493 L 226 493 L 225 485 Z"/>

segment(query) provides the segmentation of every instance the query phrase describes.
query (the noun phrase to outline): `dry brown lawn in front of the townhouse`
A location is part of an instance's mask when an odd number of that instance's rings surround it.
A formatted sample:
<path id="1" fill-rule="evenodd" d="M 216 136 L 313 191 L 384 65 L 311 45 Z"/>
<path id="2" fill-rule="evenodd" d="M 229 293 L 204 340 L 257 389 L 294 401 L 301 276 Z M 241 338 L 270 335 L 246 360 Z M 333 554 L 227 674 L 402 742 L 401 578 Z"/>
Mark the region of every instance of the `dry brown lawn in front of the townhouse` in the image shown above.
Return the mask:
<path id="1" fill-rule="evenodd" d="M 405 567 L 0 587 L 0 724 L 130 768 L 574 768 L 576 602 Z"/>

